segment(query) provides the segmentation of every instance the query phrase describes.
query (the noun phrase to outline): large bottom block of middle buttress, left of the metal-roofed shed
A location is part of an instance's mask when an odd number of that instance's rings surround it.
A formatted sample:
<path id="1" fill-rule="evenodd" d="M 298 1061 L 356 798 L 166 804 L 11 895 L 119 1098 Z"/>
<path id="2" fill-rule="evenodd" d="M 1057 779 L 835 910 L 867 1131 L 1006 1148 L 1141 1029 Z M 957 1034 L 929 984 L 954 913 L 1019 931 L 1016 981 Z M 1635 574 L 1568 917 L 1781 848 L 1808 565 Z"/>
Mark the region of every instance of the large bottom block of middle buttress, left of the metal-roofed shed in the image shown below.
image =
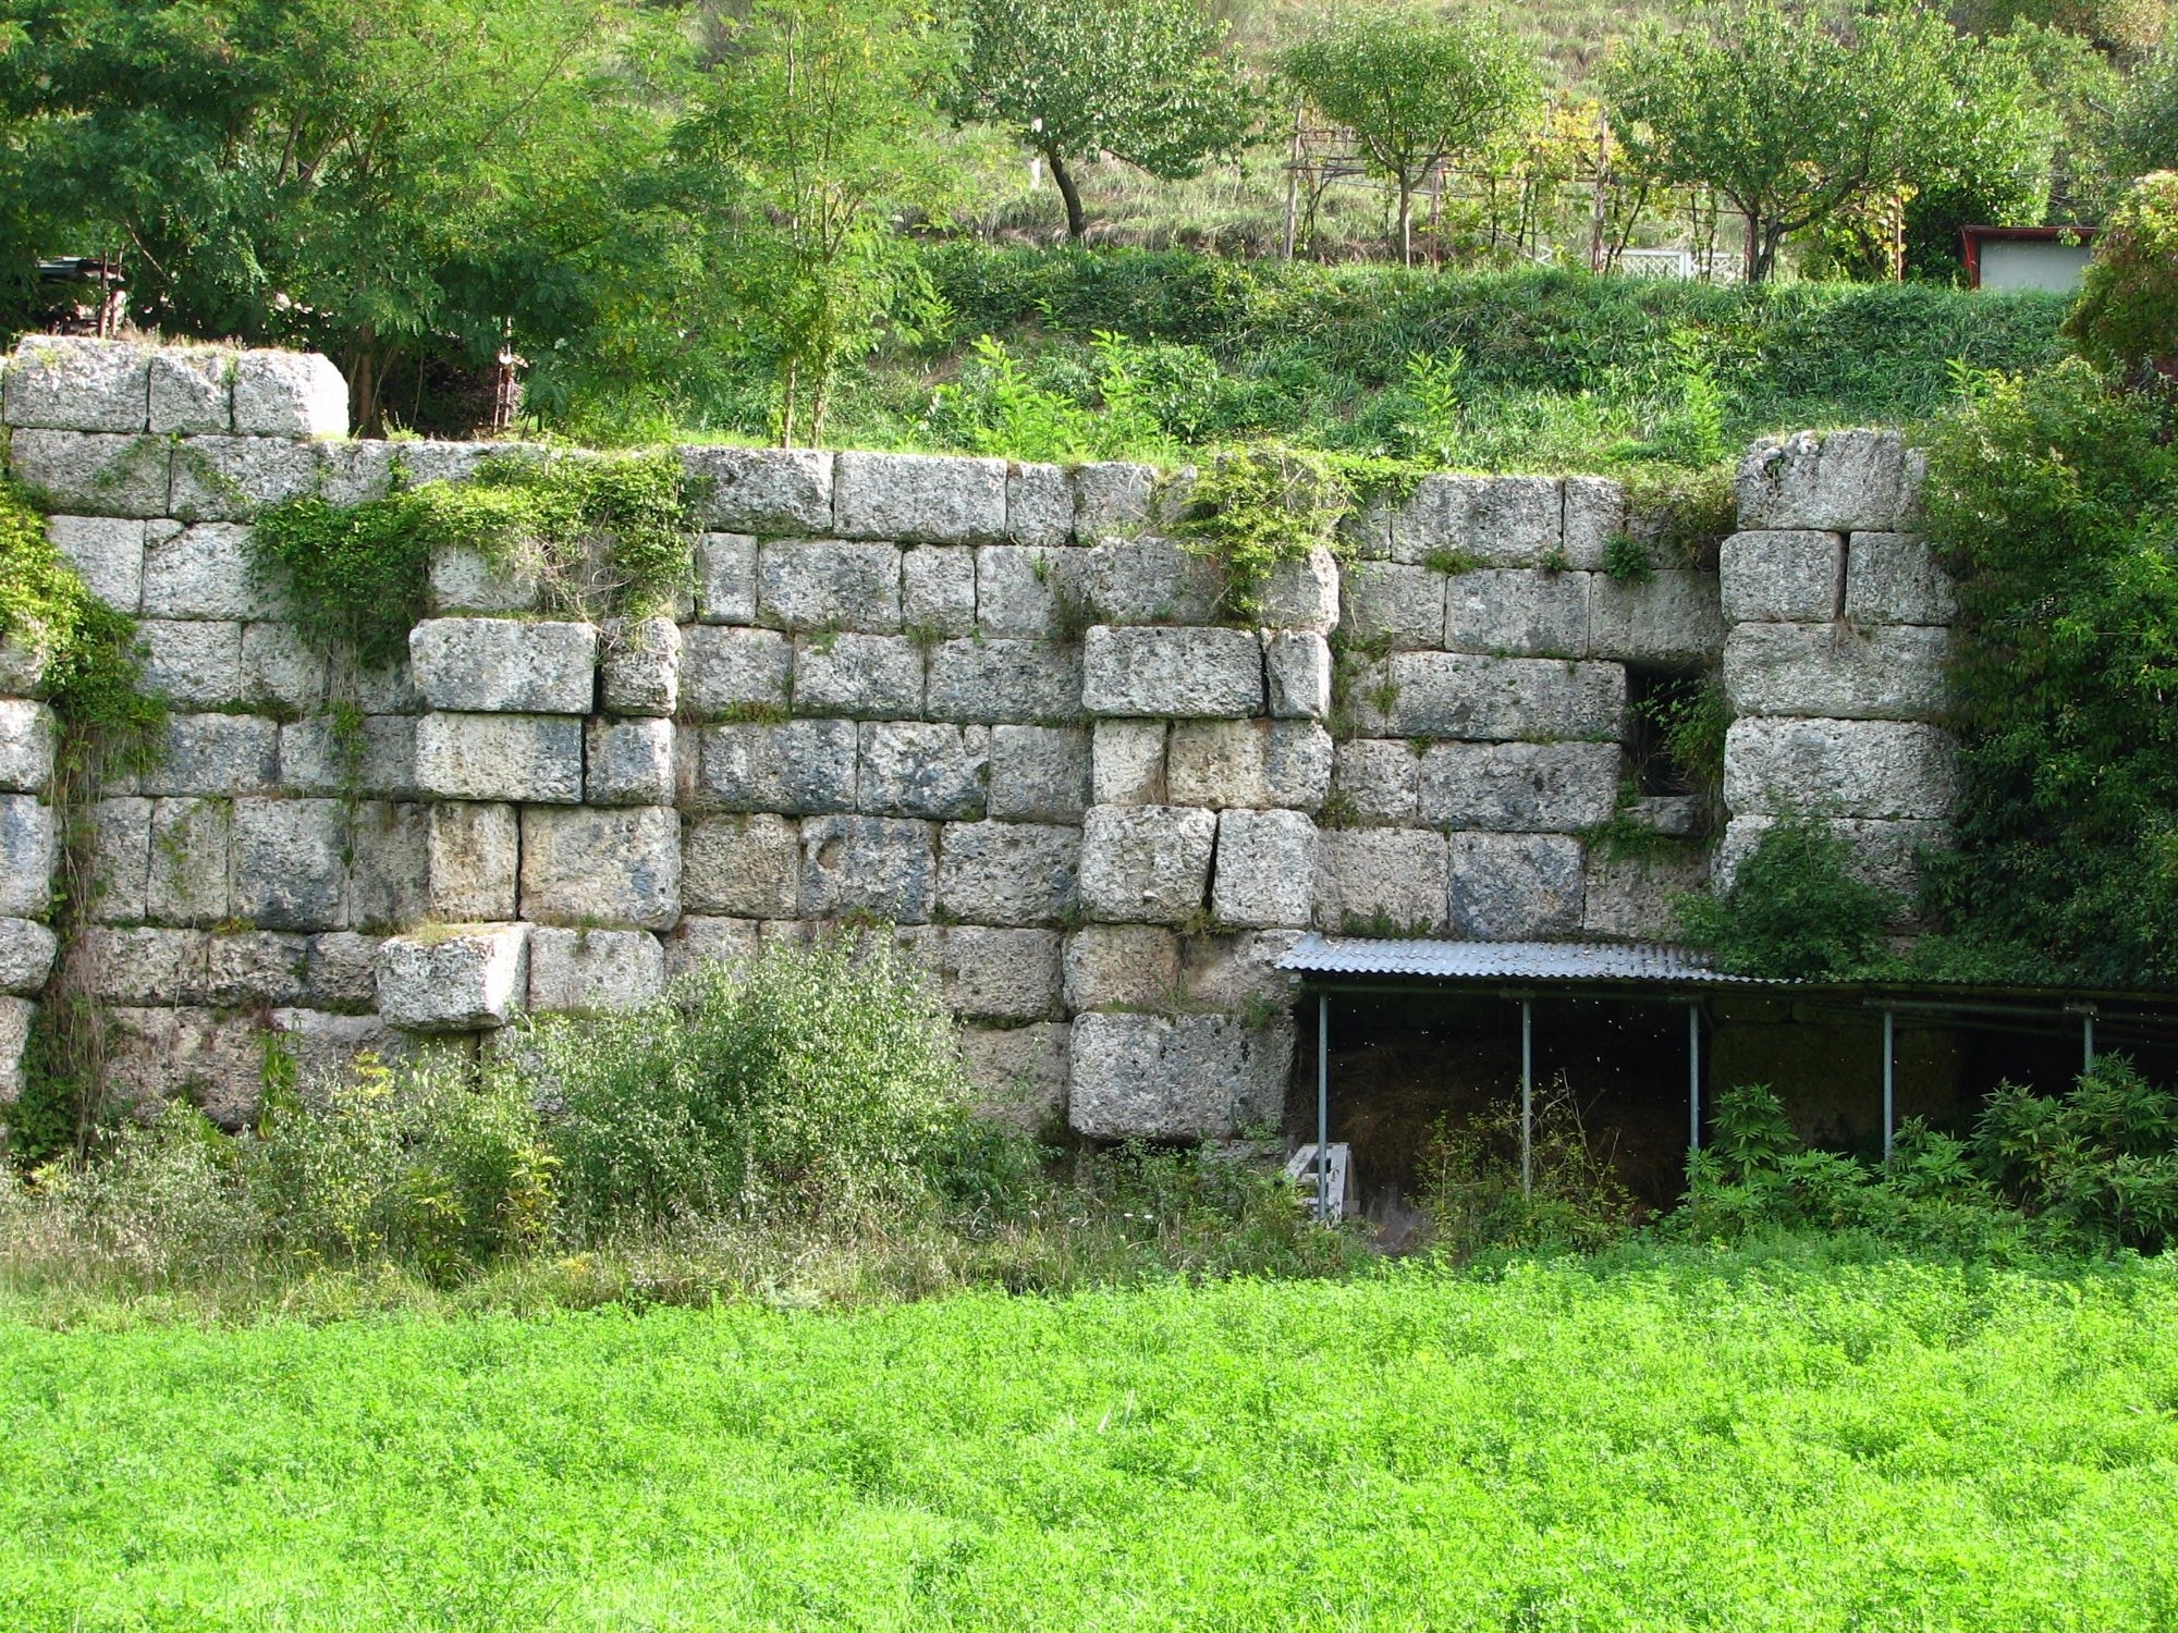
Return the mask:
<path id="1" fill-rule="evenodd" d="M 1067 1119 L 1091 1139 L 1231 1139 L 1278 1117 L 1292 1065 L 1292 1021 L 1080 1015 Z"/>

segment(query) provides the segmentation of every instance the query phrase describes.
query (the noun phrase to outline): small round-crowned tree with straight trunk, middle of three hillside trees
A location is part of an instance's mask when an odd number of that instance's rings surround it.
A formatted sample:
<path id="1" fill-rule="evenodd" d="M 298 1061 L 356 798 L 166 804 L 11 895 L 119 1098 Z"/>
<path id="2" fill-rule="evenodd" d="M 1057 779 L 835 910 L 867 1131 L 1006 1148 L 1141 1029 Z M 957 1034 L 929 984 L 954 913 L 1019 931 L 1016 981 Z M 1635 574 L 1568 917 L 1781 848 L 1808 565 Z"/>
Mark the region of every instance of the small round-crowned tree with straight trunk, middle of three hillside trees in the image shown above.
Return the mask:
<path id="1" fill-rule="evenodd" d="M 1503 135 L 1538 96 L 1535 63 L 1477 15 L 1348 11 L 1278 54 L 1278 72 L 1322 118 L 1353 131 L 1398 189 L 1398 255 L 1414 266 L 1414 189 Z"/>

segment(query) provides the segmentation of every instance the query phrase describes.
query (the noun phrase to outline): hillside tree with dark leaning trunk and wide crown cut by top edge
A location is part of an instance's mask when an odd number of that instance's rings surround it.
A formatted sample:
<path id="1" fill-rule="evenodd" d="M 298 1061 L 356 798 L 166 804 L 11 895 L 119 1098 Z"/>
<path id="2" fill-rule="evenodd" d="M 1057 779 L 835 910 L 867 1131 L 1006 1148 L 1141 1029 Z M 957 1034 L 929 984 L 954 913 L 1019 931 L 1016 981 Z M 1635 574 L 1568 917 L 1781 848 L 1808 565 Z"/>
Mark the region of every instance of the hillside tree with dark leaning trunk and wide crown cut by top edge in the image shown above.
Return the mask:
<path id="1" fill-rule="evenodd" d="M 1076 163 L 1109 152 L 1178 181 L 1252 124 L 1224 24 L 1200 0 L 967 0 L 967 20 L 950 107 L 1043 157 L 1076 244 L 1089 231 Z"/>

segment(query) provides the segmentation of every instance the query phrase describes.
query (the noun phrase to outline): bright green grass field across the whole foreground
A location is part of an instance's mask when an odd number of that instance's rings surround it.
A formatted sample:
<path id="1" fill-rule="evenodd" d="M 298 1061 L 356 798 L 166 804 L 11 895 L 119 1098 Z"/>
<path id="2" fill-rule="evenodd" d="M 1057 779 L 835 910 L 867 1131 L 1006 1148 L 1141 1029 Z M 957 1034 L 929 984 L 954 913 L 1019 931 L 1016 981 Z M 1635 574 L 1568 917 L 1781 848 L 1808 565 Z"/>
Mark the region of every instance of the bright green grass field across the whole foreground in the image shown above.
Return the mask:
<path id="1" fill-rule="evenodd" d="M 2178 1276 L 0 1324 L 7 1629 L 2161 1629 Z"/>

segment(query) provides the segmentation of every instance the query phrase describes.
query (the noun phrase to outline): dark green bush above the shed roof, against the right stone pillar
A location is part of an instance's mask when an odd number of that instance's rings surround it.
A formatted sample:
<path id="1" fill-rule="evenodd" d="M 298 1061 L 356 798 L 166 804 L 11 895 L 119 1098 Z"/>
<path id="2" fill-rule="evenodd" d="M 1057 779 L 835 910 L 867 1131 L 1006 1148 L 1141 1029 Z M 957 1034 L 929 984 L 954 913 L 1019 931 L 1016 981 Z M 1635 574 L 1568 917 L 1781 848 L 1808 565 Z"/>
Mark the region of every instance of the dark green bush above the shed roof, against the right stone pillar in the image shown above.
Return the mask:
<path id="1" fill-rule="evenodd" d="M 1688 945 L 1729 975 L 1773 980 L 1864 973 L 1897 917 L 1884 891 L 1853 875 L 1853 849 L 1814 816 L 1779 816 L 1740 858 L 1723 895 L 1679 899 Z"/>

